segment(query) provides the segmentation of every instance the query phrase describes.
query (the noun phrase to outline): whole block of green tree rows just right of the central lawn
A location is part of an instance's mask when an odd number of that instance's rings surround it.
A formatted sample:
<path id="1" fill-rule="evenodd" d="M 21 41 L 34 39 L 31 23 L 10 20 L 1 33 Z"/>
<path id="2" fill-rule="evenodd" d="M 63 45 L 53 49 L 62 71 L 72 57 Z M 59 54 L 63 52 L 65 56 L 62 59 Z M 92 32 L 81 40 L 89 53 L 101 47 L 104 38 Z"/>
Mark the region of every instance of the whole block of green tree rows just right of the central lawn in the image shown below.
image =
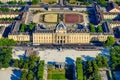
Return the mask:
<path id="1" fill-rule="evenodd" d="M 83 62 L 81 58 L 76 59 L 77 80 L 102 80 L 99 68 L 108 67 L 108 58 L 97 56 L 96 60 Z"/>

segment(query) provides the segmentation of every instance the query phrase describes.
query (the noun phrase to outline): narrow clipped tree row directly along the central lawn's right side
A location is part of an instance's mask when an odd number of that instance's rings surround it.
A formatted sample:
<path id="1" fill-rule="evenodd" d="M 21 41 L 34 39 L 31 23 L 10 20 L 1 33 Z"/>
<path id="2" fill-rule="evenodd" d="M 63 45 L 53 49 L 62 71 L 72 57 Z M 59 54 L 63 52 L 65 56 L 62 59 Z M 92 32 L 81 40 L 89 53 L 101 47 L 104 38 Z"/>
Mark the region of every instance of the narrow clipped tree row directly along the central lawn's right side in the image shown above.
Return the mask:
<path id="1" fill-rule="evenodd" d="M 83 64 L 81 58 L 76 59 L 77 80 L 83 80 Z"/>

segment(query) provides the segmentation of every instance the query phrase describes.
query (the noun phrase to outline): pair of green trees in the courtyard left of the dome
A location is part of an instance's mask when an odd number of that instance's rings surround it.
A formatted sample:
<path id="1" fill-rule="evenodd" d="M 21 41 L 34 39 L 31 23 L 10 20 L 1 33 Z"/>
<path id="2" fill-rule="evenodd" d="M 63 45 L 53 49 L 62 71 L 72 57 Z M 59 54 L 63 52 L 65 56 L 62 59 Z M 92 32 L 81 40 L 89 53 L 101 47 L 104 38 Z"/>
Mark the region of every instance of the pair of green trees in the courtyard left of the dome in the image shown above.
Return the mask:
<path id="1" fill-rule="evenodd" d="M 22 23 L 21 27 L 20 27 L 20 32 L 33 31 L 34 26 L 35 26 L 35 23 L 31 23 L 29 25 L 26 25 L 25 23 Z"/>

